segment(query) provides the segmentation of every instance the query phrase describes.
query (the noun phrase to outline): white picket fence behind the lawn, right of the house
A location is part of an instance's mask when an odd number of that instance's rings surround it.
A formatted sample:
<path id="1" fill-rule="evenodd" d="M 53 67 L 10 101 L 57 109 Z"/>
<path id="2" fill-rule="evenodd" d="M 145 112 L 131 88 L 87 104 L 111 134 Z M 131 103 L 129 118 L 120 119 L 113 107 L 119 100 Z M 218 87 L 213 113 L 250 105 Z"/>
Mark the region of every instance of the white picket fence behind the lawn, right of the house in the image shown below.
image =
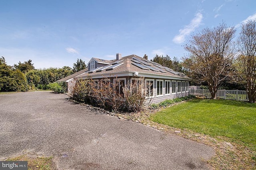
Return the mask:
<path id="1" fill-rule="evenodd" d="M 189 94 L 211 98 L 210 91 L 204 89 L 189 89 Z M 248 101 L 247 93 L 244 90 L 217 90 L 216 97 L 222 99 Z"/>

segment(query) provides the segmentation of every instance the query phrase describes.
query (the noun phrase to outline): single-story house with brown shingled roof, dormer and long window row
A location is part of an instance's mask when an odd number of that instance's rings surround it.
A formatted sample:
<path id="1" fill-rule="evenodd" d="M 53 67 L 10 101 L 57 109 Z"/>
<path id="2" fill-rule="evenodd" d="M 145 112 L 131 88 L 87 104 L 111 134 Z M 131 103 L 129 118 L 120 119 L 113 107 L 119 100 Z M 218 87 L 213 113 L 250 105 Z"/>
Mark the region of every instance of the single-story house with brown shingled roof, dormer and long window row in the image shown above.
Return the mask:
<path id="1" fill-rule="evenodd" d="M 191 80 L 183 73 L 149 61 L 146 55 L 144 58 L 137 55 L 122 57 L 120 53 L 117 53 L 114 60 L 92 58 L 88 63 L 88 69 L 62 78 L 58 82 L 65 82 L 67 91 L 70 93 L 76 79 L 88 77 L 95 81 L 102 78 L 106 78 L 112 83 L 118 81 L 119 90 L 122 90 L 121 88 L 128 82 L 143 78 L 146 84 L 150 84 L 146 89 L 147 99 L 150 103 L 188 96 Z"/>

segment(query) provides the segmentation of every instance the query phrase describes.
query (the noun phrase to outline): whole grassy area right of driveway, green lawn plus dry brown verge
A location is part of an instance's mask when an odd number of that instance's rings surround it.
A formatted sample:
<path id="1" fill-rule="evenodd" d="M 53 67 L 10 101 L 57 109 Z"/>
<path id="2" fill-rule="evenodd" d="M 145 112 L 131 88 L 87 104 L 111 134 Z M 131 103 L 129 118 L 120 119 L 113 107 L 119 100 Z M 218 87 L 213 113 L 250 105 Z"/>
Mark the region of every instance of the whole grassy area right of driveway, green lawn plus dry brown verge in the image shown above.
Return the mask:
<path id="1" fill-rule="evenodd" d="M 162 109 L 150 120 L 181 129 L 182 137 L 213 147 L 216 154 L 207 162 L 214 169 L 256 169 L 256 104 L 194 99 Z"/>

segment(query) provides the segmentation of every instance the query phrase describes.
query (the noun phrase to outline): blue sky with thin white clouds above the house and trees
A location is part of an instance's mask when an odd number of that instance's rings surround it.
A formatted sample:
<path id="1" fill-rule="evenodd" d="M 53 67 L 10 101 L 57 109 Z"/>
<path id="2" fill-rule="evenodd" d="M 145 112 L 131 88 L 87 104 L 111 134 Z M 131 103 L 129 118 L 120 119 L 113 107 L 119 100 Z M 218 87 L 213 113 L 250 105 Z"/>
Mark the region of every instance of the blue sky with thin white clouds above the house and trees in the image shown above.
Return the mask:
<path id="1" fill-rule="evenodd" d="M 181 58 L 193 33 L 256 19 L 255 0 L 1 0 L 0 56 L 8 65 L 70 66 L 135 54 Z"/>

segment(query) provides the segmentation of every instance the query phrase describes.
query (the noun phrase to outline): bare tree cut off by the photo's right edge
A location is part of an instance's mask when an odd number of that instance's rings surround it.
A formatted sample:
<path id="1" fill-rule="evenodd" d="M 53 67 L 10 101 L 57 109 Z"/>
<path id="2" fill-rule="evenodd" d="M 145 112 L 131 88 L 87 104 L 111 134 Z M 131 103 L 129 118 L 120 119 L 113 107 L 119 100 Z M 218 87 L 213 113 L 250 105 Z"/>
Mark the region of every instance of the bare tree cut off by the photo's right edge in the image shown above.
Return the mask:
<path id="1" fill-rule="evenodd" d="M 256 98 L 256 20 L 250 20 L 242 25 L 238 37 L 238 71 L 246 82 L 246 92 L 249 102 Z"/>

